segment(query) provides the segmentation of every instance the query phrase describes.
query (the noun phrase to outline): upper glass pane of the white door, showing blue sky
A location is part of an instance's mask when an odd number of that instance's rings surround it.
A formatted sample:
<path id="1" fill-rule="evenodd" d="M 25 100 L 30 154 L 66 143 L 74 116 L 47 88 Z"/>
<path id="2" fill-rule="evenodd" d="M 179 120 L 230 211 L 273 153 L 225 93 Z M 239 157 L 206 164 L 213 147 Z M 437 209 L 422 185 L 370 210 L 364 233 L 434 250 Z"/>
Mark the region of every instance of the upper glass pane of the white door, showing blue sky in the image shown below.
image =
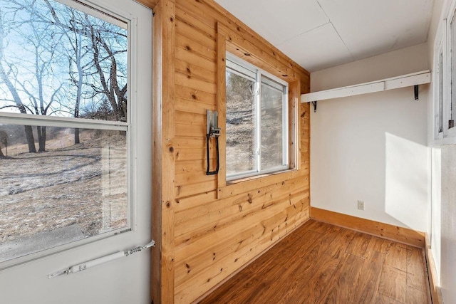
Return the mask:
<path id="1" fill-rule="evenodd" d="M 126 23 L 52 0 L 0 9 L 1 111 L 127 120 Z"/>

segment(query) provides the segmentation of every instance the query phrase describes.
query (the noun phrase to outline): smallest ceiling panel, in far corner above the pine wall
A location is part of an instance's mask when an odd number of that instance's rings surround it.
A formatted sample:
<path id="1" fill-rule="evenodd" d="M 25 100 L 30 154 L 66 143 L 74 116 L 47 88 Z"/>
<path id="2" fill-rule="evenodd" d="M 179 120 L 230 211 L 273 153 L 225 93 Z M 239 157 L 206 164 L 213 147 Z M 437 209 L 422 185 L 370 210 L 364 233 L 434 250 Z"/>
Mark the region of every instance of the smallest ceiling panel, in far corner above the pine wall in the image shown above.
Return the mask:
<path id="1" fill-rule="evenodd" d="M 311 71 L 353 61 L 351 53 L 331 23 L 281 43 L 279 49 Z"/>

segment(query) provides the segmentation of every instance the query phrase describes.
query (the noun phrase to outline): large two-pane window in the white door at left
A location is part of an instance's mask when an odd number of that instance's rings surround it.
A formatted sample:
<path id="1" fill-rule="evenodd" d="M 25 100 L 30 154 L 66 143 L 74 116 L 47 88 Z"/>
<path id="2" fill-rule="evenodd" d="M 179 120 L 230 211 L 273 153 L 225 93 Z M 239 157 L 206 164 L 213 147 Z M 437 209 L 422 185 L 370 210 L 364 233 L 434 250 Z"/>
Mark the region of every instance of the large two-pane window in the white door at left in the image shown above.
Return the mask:
<path id="1" fill-rule="evenodd" d="M 0 262 L 132 228 L 130 21 L 63 3 L 0 1 Z"/>

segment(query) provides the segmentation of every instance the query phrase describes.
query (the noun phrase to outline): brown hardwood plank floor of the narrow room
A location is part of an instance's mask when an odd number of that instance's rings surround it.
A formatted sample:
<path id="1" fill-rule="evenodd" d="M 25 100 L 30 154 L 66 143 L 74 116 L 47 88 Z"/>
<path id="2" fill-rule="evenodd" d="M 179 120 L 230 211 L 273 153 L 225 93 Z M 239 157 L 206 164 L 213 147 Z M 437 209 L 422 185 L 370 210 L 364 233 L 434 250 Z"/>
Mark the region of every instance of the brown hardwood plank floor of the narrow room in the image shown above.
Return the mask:
<path id="1" fill-rule="evenodd" d="M 310 220 L 199 303 L 431 303 L 423 249 Z"/>

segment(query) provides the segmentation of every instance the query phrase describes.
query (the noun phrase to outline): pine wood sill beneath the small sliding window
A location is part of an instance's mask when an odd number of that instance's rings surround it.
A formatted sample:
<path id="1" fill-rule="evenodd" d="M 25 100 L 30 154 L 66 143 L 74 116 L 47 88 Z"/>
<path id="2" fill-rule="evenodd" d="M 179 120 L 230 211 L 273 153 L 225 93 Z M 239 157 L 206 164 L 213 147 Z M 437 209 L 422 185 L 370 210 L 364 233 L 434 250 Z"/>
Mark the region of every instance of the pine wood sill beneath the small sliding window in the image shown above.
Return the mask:
<path id="1" fill-rule="evenodd" d="M 224 187 L 217 189 L 217 199 L 224 199 L 229 196 L 242 194 L 258 189 L 260 187 L 267 187 L 271 184 L 281 183 L 284 180 L 294 179 L 296 177 L 304 177 L 306 170 L 303 169 L 286 169 L 279 172 L 272 172 L 268 174 L 255 175 L 254 177 L 245 177 L 227 182 Z"/>

